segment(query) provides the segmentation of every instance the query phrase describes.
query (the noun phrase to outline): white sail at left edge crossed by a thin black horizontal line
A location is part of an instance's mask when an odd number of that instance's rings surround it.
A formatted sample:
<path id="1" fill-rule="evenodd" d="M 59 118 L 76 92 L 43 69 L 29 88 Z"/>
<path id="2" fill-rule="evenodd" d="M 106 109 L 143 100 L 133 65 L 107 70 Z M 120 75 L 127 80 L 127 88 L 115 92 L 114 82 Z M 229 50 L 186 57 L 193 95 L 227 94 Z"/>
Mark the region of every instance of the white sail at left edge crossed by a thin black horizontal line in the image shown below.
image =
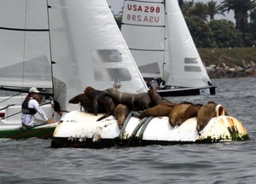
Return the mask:
<path id="1" fill-rule="evenodd" d="M 0 85 L 52 88 L 46 1 L 0 3 Z"/>

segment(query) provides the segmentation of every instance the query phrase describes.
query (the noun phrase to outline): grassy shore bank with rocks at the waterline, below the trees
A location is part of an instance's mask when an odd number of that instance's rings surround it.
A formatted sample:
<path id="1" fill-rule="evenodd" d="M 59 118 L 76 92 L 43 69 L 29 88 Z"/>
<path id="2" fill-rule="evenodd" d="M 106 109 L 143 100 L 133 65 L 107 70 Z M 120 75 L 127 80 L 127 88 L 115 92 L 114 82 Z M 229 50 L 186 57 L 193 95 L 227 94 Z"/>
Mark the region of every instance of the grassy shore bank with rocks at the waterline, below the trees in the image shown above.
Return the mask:
<path id="1" fill-rule="evenodd" d="M 256 48 L 198 49 L 210 78 L 256 77 Z"/>

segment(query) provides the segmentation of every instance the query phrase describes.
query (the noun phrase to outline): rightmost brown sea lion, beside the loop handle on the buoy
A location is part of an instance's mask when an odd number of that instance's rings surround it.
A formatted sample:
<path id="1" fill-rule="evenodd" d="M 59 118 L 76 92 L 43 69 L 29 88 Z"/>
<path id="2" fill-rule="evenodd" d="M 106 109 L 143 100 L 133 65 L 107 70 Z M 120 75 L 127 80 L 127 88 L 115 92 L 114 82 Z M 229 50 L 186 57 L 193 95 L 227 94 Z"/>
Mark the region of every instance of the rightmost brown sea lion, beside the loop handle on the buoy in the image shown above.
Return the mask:
<path id="1" fill-rule="evenodd" d="M 208 122 L 213 118 L 216 117 L 216 106 L 218 106 L 217 103 L 214 101 L 208 101 L 207 104 L 201 106 L 199 111 L 197 112 L 197 131 L 200 132 L 202 129 L 204 129 Z M 224 115 L 229 116 L 230 112 L 228 112 L 224 108 Z"/>

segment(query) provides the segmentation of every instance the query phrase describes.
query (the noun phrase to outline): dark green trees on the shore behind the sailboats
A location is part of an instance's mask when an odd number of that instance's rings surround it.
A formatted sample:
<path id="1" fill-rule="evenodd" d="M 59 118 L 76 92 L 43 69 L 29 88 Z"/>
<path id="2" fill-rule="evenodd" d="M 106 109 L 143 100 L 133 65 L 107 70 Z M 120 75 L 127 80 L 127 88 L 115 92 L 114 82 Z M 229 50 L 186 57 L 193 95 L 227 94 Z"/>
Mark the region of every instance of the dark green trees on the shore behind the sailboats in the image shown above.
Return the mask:
<path id="1" fill-rule="evenodd" d="M 256 45 L 256 0 L 212 0 L 195 3 L 178 0 L 197 48 L 235 48 Z M 217 14 L 234 11 L 236 22 L 215 20 Z M 121 27 L 122 12 L 114 18 Z"/>

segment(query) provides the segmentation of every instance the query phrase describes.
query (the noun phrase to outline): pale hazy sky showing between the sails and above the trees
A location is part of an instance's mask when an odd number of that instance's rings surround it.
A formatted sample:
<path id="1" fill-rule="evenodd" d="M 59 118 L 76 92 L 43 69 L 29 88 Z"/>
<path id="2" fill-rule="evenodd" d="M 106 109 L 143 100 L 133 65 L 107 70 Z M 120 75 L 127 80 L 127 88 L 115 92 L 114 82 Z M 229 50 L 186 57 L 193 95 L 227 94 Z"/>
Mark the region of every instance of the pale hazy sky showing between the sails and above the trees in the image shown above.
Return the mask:
<path id="1" fill-rule="evenodd" d="M 172 1 L 172 0 L 170 0 Z M 194 0 L 194 2 L 203 2 L 206 3 L 210 0 Z M 217 3 L 221 3 L 223 0 L 215 0 Z M 124 0 L 107 0 L 109 6 L 111 6 L 111 10 L 113 10 L 114 14 L 118 14 L 124 5 Z M 230 14 L 223 15 L 215 15 L 215 19 L 227 19 L 234 21 L 234 13 L 230 11 Z"/>

